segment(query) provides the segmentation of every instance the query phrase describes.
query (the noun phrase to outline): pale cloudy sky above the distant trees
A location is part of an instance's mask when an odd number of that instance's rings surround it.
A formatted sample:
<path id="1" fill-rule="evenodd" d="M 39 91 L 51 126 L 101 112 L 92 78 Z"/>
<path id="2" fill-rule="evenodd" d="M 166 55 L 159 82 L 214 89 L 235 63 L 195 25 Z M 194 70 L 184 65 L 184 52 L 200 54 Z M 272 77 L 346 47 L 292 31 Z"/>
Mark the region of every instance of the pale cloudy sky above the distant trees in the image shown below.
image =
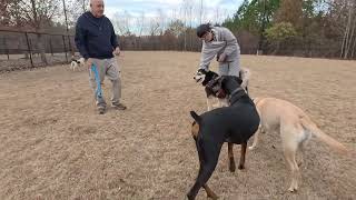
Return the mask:
<path id="1" fill-rule="evenodd" d="M 121 24 L 122 18 L 129 16 L 131 19 L 129 23 L 134 29 L 135 18 L 142 16 L 147 21 L 162 16 L 167 23 L 171 19 L 187 19 L 191 21 L 192 27 L 197 27 L 200 23 L 200 2 L 201 0 L 105 0 L 105 14 L 113 21 L 121 20 Z M 184 17 L 185 3 L 186 8 L 192 8 L 191 17 Z M 233 17 L 241 3 L 243 0 L 202 0 L 201 22 L 220 23 L 227 17 Z"/>

